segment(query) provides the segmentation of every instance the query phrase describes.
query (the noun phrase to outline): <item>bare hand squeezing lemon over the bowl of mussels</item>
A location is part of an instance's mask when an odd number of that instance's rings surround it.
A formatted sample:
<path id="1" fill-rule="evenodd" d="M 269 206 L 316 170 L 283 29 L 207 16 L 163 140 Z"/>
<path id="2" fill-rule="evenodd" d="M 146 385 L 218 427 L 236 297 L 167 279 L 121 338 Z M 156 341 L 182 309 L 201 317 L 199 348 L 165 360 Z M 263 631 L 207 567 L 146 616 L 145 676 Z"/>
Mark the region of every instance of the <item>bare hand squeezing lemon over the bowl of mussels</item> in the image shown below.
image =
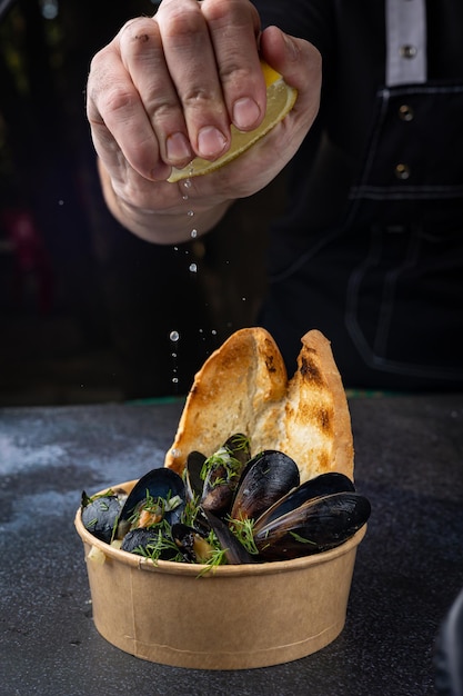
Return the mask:
<path id="1" fill-rule="evenodd" d="M 171 167 L 195 155 L 217 159 L 230 147 L 231 122 L 252 130 L 263 118 L 260 54 L 299 90 L 294 109 L 238 160 L 192 179 L 185 201 L 182 182 L 165 181 Z M 91 64 L 88 118 L 110 208 L 159 242 L 184 238 L 187 226 L 182 233 L 173 219 L 188 207 L 210 226 L 293 156 L 315 118 L 320 82 L 316 49 L 275 27 L 260 34 L 249 0 L 163 0 L 153 18 L 128 22 Z M 171 226 L 177 238 L 164 237 Z"/>

